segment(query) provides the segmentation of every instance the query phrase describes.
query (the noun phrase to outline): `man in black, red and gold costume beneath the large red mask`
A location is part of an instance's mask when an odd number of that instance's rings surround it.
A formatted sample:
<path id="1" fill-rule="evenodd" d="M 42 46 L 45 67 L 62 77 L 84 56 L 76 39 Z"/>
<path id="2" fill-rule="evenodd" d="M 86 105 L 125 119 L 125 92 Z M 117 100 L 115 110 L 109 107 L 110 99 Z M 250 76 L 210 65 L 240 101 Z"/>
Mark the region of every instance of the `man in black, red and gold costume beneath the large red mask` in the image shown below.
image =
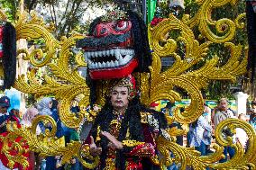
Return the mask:
<path id="1" fill-rule="evenodd" d="M 167 128 L 164 114 L 140 103 L 133 76 L 112 82 L 87 139 L 91 155 L 100 156 L 100 169 L 156 169 L 149 158 L 156 154 L 153 135 Z"/>

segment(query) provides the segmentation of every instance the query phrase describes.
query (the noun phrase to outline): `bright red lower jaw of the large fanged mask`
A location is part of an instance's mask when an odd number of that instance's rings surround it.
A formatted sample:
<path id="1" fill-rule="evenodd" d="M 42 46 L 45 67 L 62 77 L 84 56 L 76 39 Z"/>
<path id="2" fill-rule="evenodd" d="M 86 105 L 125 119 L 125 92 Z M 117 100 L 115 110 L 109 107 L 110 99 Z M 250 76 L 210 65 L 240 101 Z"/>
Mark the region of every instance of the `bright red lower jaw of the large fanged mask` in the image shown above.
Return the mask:
<path id="1" fill-rule="evenodd" d="M 128 65 L 125 65 L 124 67 L 105 70 L 90 70 L 90 76 L 92 79 L 122 78 L 123 76 L 131 74 L 135 67 L 138 67 L 137 59 L 133 59 Z"/>

